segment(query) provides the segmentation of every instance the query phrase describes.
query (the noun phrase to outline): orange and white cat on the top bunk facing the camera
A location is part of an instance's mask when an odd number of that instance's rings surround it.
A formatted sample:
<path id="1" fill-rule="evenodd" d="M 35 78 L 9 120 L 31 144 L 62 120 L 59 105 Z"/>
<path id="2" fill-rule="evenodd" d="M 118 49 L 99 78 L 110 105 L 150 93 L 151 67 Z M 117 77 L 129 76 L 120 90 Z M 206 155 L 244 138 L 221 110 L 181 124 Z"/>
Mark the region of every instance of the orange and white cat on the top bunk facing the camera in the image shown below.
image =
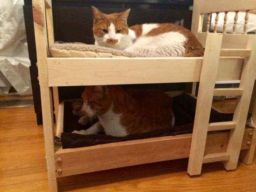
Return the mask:
<path id="1" fill-rule="evenodd" d="M 204 50 L 196 37 L 184 27 L 172 23 L 149 23 L 128 27 L 130 9 L 103 14 L 92 7 L 95 45 L 130 52 L 162 56 L 200 57 Z"/>

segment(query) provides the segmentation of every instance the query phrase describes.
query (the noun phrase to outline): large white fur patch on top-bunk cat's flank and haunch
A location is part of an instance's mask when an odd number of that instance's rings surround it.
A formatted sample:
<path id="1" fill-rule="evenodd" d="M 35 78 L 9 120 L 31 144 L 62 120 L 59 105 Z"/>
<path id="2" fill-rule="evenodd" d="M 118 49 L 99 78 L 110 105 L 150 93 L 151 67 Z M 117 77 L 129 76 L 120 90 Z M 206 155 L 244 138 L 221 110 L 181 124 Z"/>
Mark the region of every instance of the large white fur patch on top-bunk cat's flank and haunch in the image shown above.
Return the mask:
<path id="1" fill-rule="evenodd" d="M 126 51 L 146 54 L 161 54 L 178 57 L 186 53 L 184 42 L 187 41 L 180 32 L 168 32 L 151 37 L 140 37 Z"/>

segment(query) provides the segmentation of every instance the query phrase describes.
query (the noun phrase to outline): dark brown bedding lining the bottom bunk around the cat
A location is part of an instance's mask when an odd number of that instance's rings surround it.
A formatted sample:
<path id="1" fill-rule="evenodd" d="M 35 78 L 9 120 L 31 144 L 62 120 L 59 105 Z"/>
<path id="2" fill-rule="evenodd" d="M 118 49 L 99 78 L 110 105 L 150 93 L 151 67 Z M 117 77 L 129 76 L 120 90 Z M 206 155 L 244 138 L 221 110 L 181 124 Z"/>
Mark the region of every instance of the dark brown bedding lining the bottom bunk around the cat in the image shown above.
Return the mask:
<path id="1" fill-rule="evenodd" d="M 162 136 L 174 136 L 192 133 L 193 121 L 195 117 L 196 99 L 188 94 L 178 95 L 173 99 L 173 112 L 175 115 L 175 126 L 171 129 L 162 129 L 158 131 L 151 131 L 146 133 L 136 133 L 124 137 L 115 137 L 110 135 L 80 135 L 71 133 L 74 130 L 87 129 L 95 122 L 86 126 L 78 123 L 79 117 L 72 114 L 71 103 L 65 102 L 64 105 L 64 132 L 61 134 L 61 143 L 63 148 L 75 148 L 93 146 L 97 144 L 121 142 L 127 140 L 155 138 Z M 233 113 L 219 113 L 211 109 L 210 123 L 231 121 Z"/>

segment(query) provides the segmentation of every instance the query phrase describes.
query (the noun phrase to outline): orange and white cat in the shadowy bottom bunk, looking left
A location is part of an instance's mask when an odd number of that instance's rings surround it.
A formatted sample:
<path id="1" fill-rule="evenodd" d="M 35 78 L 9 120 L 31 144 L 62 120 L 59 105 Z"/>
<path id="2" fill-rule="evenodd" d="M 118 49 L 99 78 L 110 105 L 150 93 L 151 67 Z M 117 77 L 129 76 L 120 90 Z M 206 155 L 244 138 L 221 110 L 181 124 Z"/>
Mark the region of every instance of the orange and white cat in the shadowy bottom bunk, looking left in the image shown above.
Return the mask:
<path id="1" fill-rule="evenodd" d="M 174 126 L 172 98 L 157 89 L 125 91 L 120 86 L 87 86 L 82 94 L 81 111 L 99 122 L 84 135 L 104 131 L 106 135 L 125 136 Z"/>

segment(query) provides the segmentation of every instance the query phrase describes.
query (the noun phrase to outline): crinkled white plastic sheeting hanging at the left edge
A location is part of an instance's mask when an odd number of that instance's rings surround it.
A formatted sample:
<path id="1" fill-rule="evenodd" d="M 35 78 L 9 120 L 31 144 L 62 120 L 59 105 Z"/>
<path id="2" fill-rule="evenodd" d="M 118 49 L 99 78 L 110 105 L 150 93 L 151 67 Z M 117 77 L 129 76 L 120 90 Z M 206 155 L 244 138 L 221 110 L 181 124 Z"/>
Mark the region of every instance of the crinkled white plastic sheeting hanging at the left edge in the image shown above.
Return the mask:
<path id="1" fill-rule="evenodd" d="M 0 0 L 0 94 L 31 94 L 23 0 Z"/>

